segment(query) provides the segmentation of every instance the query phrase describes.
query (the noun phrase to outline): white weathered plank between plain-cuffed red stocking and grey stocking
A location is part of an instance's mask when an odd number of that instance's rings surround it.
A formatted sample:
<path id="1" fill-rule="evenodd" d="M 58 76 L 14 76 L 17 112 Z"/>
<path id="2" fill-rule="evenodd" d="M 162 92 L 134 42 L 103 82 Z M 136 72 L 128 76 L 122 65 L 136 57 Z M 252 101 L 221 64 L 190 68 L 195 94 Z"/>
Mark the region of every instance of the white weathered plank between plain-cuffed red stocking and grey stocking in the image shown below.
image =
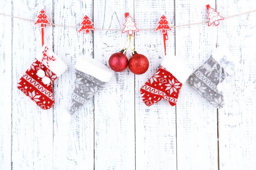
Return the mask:
<path id="1" fill-rule="evenodd" d="M 207 3 L 215 7 L 215 0 Z M 207 20 L 206 2 L 175 2 L 175 24 Z M 175 29 L 176 56 L 197 69 L 216 48 L 216 27 L 198 24 Z M 181 70 L 182 71 L 182 70 Z M 217 109 L 184 83 L 176 107 L 177 169 L 218 169 Z"/>

